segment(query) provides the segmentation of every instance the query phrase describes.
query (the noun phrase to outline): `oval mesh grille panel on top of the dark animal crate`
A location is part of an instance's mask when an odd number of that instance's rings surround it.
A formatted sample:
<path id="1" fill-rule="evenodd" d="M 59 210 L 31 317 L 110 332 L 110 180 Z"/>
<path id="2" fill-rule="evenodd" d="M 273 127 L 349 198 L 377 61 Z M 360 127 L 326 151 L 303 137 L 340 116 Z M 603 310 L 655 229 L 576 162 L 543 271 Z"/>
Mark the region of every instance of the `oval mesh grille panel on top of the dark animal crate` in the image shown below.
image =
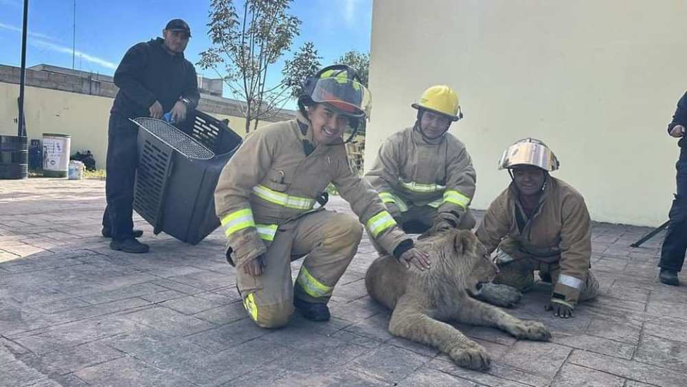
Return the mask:
<path id="1" fill-rule="evenodd" d="M 168 122 L 146 117 L 134 118 L 131 121 L 185 157 L 200 160 L 214 157 L 214 153 L 205 145 Z"/>

